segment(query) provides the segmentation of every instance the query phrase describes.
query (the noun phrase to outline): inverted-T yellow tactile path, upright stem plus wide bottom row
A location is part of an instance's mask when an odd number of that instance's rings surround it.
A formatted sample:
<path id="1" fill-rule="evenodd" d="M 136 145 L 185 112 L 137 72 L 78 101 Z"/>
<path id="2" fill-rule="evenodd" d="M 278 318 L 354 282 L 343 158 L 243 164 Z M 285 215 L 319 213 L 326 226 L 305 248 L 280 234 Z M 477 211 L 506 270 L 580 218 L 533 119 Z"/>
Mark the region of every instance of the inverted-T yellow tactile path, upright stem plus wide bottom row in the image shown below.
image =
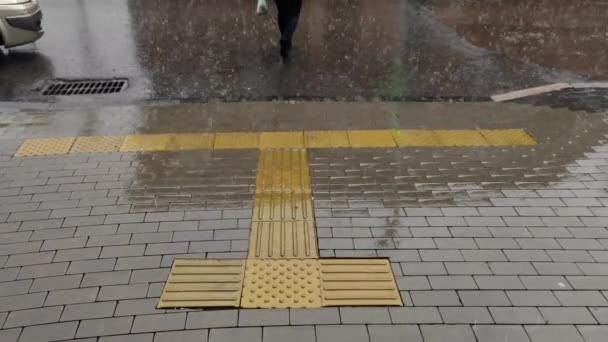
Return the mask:
<path id="1" fill-rule="evenodd" d="M 263 149 L 256 184 L 247 260 L 175 260 L 159 308 L 403 305 L 388 260 L 319 259 L 306 150 Z"/>

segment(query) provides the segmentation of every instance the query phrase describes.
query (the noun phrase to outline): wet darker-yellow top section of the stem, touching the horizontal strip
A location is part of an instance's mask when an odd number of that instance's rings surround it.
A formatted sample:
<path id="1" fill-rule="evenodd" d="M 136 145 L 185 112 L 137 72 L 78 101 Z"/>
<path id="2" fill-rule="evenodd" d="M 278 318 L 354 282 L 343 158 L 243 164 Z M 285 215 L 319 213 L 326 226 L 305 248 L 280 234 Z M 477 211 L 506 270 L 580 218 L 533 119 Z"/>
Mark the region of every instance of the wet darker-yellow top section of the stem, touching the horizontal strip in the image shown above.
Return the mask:
<path id="1" fill-rule="evenodd" d="M 257 172 L 256 194 L 311 193 L 305 149 L 262 150 Z"/>

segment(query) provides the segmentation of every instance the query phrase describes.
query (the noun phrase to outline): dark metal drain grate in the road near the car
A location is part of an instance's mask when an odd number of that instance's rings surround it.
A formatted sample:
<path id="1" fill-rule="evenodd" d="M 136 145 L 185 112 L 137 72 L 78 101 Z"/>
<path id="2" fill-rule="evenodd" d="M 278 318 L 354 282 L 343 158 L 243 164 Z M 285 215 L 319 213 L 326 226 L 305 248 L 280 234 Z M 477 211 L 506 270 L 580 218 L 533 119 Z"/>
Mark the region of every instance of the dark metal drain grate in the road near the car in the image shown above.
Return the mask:
<path id="1" fill-rule="evenodd" d="M 97 95 L 120 93 L 126 79 L 52 80 L 42 89 L 45 96 Z"/>

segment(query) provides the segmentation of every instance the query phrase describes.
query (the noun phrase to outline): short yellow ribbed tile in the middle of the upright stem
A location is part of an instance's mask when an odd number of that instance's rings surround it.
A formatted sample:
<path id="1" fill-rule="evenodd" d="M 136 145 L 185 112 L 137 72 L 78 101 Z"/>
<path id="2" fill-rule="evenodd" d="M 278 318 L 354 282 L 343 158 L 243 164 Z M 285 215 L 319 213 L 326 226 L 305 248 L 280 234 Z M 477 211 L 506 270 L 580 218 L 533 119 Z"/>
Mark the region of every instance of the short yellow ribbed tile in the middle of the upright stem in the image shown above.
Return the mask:
<path id="1" fill-rule="evenodd" d="M 300 193 L 272 193 L 254 199 L 253 220 L 313 220 L 312 196 Z"/>

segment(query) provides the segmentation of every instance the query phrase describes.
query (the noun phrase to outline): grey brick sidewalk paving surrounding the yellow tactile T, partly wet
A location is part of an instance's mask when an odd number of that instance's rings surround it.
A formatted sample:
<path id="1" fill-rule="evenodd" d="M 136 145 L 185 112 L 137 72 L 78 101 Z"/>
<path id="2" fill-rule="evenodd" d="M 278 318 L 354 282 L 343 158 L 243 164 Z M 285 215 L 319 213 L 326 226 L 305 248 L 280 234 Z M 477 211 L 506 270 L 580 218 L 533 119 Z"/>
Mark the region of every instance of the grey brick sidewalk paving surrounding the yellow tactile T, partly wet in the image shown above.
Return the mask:
<path id="1" fill-rule="evenodd" d="M 174 257 L 246 256 L 256 151 L 14 158 L 15 148 L 0 161 L 2 342 L 608 334 L 601 142 L 572 159 L 542 146 L 309 152 L 321 255 L 390 258 L 406 306 L 213 311 L 155 305 Z"/>

